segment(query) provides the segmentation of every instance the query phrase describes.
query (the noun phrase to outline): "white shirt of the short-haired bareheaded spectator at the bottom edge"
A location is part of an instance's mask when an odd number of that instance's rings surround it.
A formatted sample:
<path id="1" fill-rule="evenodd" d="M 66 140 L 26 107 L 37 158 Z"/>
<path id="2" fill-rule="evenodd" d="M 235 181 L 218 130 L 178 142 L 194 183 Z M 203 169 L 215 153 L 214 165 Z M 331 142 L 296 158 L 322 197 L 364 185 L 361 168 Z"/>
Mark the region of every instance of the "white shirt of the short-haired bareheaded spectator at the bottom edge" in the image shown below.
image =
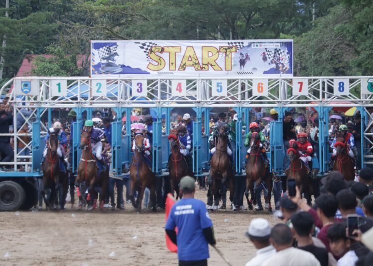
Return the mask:
<path id="1" fill-rule="evenodd" d="M 293 247 L 280 250 L 267 259 L 262 266 L 321 266 L 316 257 L 304 250 Z"/>

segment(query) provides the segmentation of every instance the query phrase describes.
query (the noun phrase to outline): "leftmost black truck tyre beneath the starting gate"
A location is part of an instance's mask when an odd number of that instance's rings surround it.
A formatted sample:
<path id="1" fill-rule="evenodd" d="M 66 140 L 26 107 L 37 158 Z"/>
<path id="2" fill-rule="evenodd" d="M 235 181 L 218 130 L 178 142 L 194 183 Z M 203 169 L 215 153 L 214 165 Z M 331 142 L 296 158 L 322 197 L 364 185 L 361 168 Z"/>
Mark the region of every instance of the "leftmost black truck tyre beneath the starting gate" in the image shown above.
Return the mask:
<path id="1" fill-rule="evenodd" d="M 25 201 L 26 194 L 21 185 L 13 181 L 0 182 L 0 210 L 18 210 Z"/>

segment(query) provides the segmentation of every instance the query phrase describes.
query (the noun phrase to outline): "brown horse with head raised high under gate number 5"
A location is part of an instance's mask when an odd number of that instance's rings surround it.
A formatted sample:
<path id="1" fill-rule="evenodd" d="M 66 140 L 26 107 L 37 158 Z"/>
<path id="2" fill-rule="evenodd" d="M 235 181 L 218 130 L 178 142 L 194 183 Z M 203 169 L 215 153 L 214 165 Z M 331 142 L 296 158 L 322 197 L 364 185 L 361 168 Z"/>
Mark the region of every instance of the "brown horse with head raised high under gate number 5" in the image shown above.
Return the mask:
<path id="1" fill-rule="evenodd" d="M 218 129 L 218 139 L 216 141 L 216 152 L 211 158 L 210 177 L 212 179 L 212 193 L 214 196 L 213 209 L 217 209 L 220 201 L 219 190 L 227 184 L 229 188 L 229 200 L 233 210 L 236 206 L 233 202 L 234 180 L 233 169 L 230 165 L 229 155 L 227 153 L 228 135 L 226 133 L 226 124 L 221 124 Z M 223 205 L 224 206 L 224 205 Z"/>

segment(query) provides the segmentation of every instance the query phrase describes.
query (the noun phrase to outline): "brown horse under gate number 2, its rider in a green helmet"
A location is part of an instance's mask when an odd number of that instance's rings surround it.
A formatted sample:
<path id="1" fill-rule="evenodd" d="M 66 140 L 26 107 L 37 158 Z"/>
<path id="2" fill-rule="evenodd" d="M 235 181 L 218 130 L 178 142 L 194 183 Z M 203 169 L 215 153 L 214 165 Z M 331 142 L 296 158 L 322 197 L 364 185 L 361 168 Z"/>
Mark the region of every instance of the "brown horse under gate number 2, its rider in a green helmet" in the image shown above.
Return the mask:
<path id="1" fill-rule="evenodd" d="M 106 170 L 99 172 L 96 157 L 92 153 L 90 133 L 83 131 L 80 137 L 82 155 L 78 165 L 76 182 L 78 184 L 82 182 L 86 183 L 87 189 L 83 199 L 85 198 L 86 202 L 88 202 L 90 209 L 94 210 L 96 208 L 98 192 L 100 193 L 100 209 L 103 210 L 107 186 L 109 184 L 109 167 L 105 165 Z M 78 186 L 77 195 L 80 201 L 82 201 L 82 195 Z"/>

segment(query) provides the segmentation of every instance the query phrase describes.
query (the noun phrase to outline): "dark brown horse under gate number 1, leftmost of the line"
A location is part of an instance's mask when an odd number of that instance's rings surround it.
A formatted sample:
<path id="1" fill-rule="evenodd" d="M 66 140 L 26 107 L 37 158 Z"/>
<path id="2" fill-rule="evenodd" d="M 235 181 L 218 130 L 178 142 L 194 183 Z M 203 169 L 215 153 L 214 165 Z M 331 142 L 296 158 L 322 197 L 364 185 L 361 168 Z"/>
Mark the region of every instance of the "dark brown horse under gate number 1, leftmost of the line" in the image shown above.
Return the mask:
<path id="1" fill-rule="evenodd" d="M 49 130 L 48 130 L 49 131 Z M 60 171 L 60 158 L 57 155 L 58 136 L 49 132 L 47 142 L 47 156 L 43 161 L 43 183 L 42 192 L 47 208 L 55 208 L 58 203 L 60 208 L 65 208 L 68 190 L 68 175 Z"/>

